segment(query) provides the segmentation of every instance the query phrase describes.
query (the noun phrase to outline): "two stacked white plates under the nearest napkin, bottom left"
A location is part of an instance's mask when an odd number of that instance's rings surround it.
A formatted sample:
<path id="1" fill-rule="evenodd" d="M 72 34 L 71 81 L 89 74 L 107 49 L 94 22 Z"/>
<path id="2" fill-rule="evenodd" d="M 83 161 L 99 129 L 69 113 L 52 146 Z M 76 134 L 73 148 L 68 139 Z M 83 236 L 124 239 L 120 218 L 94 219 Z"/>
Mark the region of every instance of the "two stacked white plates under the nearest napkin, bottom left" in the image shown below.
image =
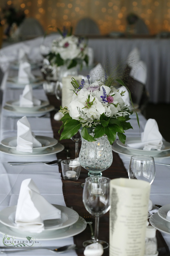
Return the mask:
<path id="1" fill-rule="evenodd" d="M 54 206 L 61 210 L 61 219 L 45 220 L 44 231 L 37 234 L 40 240 L 54 240 L 75 236 L 86 228 L 86 221 L 76 211 L 61 205 Z M 16 226 L 15 213 L 16 206 L 7 207 L 0 211 L 0 233 L 24 239 L 28 236 L 28 231 L 21 231 Z"/>

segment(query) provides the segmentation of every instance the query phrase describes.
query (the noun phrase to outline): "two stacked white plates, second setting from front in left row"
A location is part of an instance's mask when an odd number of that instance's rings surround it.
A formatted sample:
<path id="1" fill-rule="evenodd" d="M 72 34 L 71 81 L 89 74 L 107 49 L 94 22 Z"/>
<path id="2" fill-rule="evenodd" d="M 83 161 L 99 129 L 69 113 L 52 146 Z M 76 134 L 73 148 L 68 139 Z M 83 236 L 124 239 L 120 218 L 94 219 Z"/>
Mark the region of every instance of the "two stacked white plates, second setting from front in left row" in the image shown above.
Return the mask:
<path id="1" fill-rule="evenodd" d="M 16 156 L 43 156 L 56 154 L 64 149 L 64 146 L 54 138 L 46 136 L 35 136 L 35 138 L 42 144 L 41 147 L 34 147 L 33 152 L 19 152 L 17 147 L 17 136 L 5 138 L 1 141 L 0 151 L 8 155 Z"/>

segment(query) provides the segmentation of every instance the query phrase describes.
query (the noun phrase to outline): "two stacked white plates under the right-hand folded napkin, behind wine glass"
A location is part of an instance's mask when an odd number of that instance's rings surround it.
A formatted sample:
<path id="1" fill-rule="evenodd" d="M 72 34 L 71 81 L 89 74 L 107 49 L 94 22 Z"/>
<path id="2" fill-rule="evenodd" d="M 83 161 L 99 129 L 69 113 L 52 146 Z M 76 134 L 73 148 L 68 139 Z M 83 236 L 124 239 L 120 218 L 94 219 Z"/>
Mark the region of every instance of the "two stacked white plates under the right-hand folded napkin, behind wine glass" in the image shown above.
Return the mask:
<path id="1" fill-rule="evenodd" d="M 112 145 L 112 150 L 116 153 L 127 155 L 127 156 L 133 156 L 133 155 L 150 155 L 154 158 L 165 158 L 170 156 L 170 143 L 167 141 L 163 141 L 163 145 L 160 151 L 158 150 L 143 150 L 136 149 L 127 146 L 129 143 L 140 143 L 141 138 L 137 137 L 129 137 L 126 138 L 125 144 L 123 144 L 121 141 L 117 140 Z"/>

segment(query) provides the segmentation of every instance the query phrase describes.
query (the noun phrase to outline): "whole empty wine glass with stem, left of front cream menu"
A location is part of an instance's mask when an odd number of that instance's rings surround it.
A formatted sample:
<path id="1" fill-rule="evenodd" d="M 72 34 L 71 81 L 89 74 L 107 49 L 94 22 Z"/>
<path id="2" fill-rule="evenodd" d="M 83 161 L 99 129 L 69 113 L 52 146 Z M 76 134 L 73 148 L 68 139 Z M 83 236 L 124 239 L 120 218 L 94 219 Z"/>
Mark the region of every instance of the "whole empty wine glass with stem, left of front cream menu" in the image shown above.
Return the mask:
<path id="1" fill-rule="evenodd" d="M 104 215 L 110 209 L 109 201 L 110 179 L 106 177 L 87 177 L 83 188 L 83 204 L 86 210 L 95 217 L 95 239 L 83 242 L 86 247 L 92 243 L 100 243 L 103 249 L 109 247 L 106 241 L 98 239 L 99 217 Z"/>

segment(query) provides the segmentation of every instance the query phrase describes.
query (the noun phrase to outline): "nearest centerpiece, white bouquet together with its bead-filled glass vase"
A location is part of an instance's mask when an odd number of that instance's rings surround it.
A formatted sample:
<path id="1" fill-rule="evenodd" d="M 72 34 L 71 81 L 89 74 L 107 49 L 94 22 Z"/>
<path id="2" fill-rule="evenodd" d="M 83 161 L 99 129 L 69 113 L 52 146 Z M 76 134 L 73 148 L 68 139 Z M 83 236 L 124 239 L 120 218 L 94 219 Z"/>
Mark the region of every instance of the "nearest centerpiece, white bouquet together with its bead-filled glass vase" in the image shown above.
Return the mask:
<path id="1" fill-rule="evenodd" d="M 101 171 L 112 164 L 111 144 L 116 135 L 125 143 L 124 132 L 132 128 L 127 121 L 133 111 L 122 99 L 125 91 L 113 86 L 114 78 L 105 74 L 92 84 L 89 76 L 87 79 L 87 84 L 84 79 L 78 84 L 72 78 L 72 101 L 68 107 L 60 107 L 59 110 L 64 115 L 61 118 L 63 124 L 60 130 L 63 128 L 63 131 L 60 140 L 71 138 L 79 131 L 82 137 L 80 164 L 89 171 L 88 176 L 102 176 Z M 125 86 L 120 79 L 116 82 Z"/>

